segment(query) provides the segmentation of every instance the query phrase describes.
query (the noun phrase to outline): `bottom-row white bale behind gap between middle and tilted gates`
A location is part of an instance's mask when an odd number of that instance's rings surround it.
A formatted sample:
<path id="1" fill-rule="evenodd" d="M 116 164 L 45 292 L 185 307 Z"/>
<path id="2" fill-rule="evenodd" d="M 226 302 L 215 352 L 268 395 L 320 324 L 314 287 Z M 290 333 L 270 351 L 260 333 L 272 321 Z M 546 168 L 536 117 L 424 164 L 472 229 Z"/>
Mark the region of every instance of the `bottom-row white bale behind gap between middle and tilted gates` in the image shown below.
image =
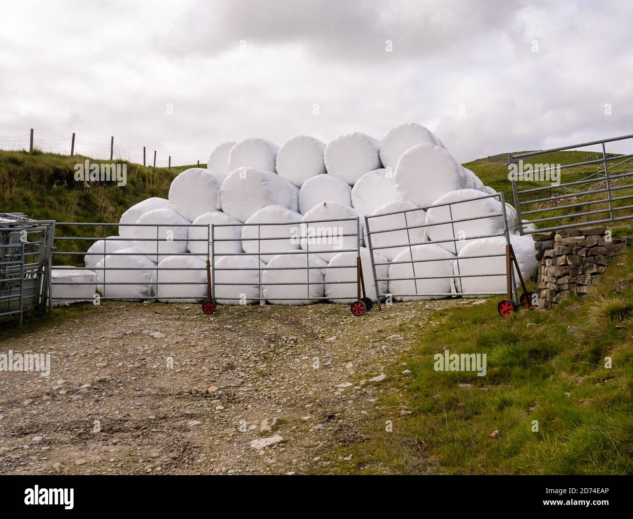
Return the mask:
<path id="1" fill-rule="evenodd" d="M 339 252 L 335 255 L 325 269 L 325 297 L 333 303 L 351 304 L 356 301 L 358 295 L 356 285 L 356 252 Z M 373 260 L 376 265 L 376 277 L 387 279 L 389 265 L 387 259 L 379 253 L 373 253 Z M 376 302 L 376 285 L 373 282 L 372 260 L 369 249 L 361 247 L 360 261 L 363 269 L 363 279 L 365 280 L 366 296 Z M 334 268 L 336 267 L 336 268 Z M 343 268 L 348 267 L 348 268 Z M 378 282 L 381 294 L 387 292 L 387 281 Z"/>

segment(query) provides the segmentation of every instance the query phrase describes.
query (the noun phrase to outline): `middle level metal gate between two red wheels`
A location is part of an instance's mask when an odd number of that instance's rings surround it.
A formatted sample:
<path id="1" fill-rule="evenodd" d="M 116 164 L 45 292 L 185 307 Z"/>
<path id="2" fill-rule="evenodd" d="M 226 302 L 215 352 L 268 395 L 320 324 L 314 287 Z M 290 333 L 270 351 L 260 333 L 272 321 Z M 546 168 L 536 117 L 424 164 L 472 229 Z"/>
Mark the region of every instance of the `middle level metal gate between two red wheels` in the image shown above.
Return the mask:
<path id="1" fill-rule="evenodd" d="M 360 217 L 210 224 L 208 298 L 203 312 L 212 314 L 223 304 L 328 300 L 349 304 L 354 316 L 365 315 L 373 300 L 365 292 L 362 225 Z M 235 242 L 236 234 L 241 236 L 245 252 L 219 255 L 218 249 L 225 250 L 227 242 Z M 339 253 L 347 253 L 346 260 L 330 265 Z M 250 266 L 245 265 L 248 262 Z M 339 274 L 326 279 L 334 269 Z"/>

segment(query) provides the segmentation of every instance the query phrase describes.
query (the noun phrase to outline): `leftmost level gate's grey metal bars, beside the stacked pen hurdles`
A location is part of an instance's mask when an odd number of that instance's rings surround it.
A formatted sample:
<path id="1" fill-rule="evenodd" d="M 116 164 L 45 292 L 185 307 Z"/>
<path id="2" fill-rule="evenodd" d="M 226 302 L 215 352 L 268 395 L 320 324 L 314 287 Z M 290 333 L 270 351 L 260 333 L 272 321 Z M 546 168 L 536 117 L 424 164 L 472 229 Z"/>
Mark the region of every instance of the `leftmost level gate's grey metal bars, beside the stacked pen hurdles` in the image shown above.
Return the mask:
<path id="1" fill-rule="evenodd" d="M 112 227 L 123 227 L 123 226 L 128 226 L 128 227 L 156 227 L 156 238 L 122 238 L 120 236 L 116 236 L 116 240 L 117 241 L 151 241 L 151 242 L 156 242 L 156 257 L 158 259 L 159 255 L 169 255 L 169 256 L 189 256 L 189 257 L 199 257 L 199 254 L 194 254 L 191 252 L 176 252 L 176 253 L 160 253 L 159 252 L 159 245 L 161 242 L 167 242 L 167 241 L 206 241 L 207 243 L 207 257 L 209 255 L 209 237 L 210 237 L 210 230 L 209 227 L 206 225 L 193 225 L 193 224 L 114 224 L 114 223 L 104 223 L 104 222 L 97 222 L 97 223 L 92 223 L 92 222 L 61 222 L 56 224 L 56 228 L 57 229 L 64 229 L 65 231 L 68 230 L 68 227 L 70 226 L 78 226 L 78 227 L 103 227 L 103 236 L 101 237 L 97 237 L 97 236 L 55 236 L 54 237 L 54 241 L 58 241 L 58 242 L 68 242 L 68 241 L 98 241 L 98 240 L 103 240 L 103 252 L 76 252 L 76 251 L 58 251 L 55 250 L 53 252 L 54 256 L 57 257 L 61 257 L 61 256 L 86 256 L 86 255 L 96 255 L 96 256 L 103 256 L 103 267 L 75 267 L 75 266 L 56 266 L 55 269 L 56 270 L 85 270 L 85 271 L 103 271 L 103 279 L 99 279 L 96 282 L 91 282 L 91 281 L 82 281 L 82 282 L 70 282 L 70 281 L 58 281 L 55 283 L 55 285 L 99 285 L 99 286 L 115 286 L 115 285 L 139 285 L 140 283 L 138 281 L 108 281 L 108 271 L 148 271 L 148 270 L 152 270 L 156 272 L 156 280 L 152 281 L 151 283 L 148 283 L 148 286 L 153 286 L 154 287 L 154 293 L 153 294 L 148 294 L 146 297 L 106 297 L 106 296 L 99 296 L 99 298 L 104 299 L 104 300 L 108 300 L 108 299 L 113 299 L 113 300 L 138 300 L 139 298 L 142 298 L 143 300 L 158 300 L 158 298 L 160 297 L 159 293 L 158 293 L 158 287 L 160 285 L 207 285 L 207 282 L 192 282 L 192 281 L 160 281 L 159 279 L 159 271 L 160 270 L 170 270 L 170 271 L 206 271 L 206 267 L 175 267 L 175 268 L 171 268 L 171 267 L 165 267 L 165 268 L 161 268 L 158 269 L 158 264 L 156 264 L 156 266 L 153 267 L 153 269 L 146 269 L 144 267 L 109 267 L 107 264 L 107 257 L 108 256 L 144 256 L 145 254 L 142 252 L 119 252 L 119 251 L 115 251 L 115 252 L 107 252 L 106 250 L 106 245 L 107 245 L 107 238 L 108 238 L 108 229 L 111 229 Z M 160 238 L 160 229 L 161 227 L 187 227 L 187 229 L 190 229 L 191 227 L 204 227 L 207 229 L 207 238 L 197 238 L 197 239 L 192 239 L 189 240 L 189 238 Z M 132 243 L 130 243 L 130 247 L 132 246 Z M 170 296 L 171 299 L 191 299 L 192 297 L 194 297 L 193 295 L 188 295 L 188 296 L 183 296 L 183 297 L 172 297 Z M 72 300 L 73 297 L 51 297 L 52 300 Z M 77 297 L 75 298 L 77 300 L 84 300 L 83 297 Z"/>

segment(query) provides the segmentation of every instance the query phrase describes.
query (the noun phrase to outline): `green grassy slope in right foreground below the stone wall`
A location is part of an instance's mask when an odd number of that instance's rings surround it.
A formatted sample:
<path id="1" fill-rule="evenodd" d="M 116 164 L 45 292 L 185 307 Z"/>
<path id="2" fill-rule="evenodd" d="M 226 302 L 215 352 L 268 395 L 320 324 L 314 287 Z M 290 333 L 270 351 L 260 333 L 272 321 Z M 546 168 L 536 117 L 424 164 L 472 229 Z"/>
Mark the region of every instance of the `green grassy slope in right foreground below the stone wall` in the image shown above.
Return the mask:
<path id="1" fill-rule="evenodd" d="M 633 250 L 607 272 L 584 300 L 547 312 L 501 319 L 492 298 L 384 330 L 385 343 L 399 334 L 415 346 L 384 371 L 367 442 L 330 454 L 335 471 L 633 473 Z M 487 354 L 487 375 L 435 371 L 445 349 Z"/>

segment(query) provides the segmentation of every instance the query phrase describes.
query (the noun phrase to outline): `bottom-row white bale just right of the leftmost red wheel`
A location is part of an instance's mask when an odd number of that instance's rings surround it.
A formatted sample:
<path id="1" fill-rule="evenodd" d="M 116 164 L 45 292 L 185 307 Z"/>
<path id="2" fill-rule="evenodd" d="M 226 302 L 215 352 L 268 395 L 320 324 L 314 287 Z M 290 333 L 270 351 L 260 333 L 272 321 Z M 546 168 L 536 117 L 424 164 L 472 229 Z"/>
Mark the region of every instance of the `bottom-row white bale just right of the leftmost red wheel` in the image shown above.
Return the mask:
<path id="1" fill-rule="evenodd" d="M 218 258 L 215 262 L 213 298 L 221 305 L 249 305 L 260 302 L 260 269 L 265 266 L 263 261 L 258 261 L 257 256 Z"/>

